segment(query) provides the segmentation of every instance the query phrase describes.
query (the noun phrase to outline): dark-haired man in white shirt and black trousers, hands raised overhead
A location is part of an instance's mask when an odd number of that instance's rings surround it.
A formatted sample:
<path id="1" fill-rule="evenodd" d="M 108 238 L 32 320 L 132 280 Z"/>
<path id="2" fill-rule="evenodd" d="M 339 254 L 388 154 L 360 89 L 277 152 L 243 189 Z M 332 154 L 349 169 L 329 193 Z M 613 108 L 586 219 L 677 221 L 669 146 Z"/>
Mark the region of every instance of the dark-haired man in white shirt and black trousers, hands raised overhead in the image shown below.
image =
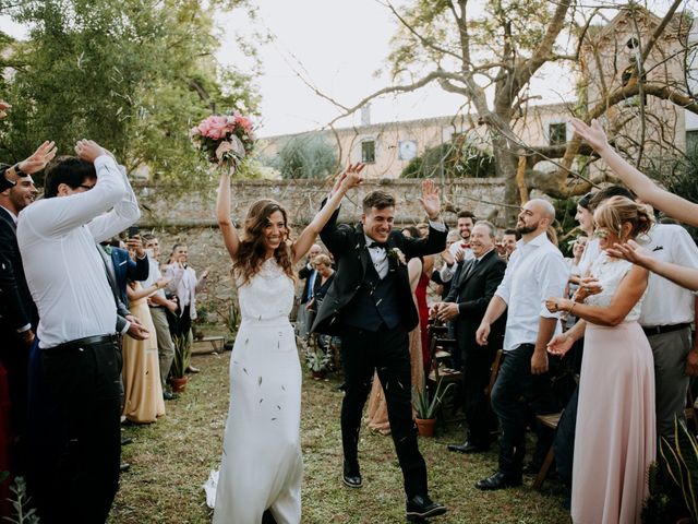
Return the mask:
<path id="1" fill-rule="evenodd" d="M 121 352 L 115 295 L 96 243 L 140 216 L 113 158 L 88 140 L 75 152 L 79 158 L 62 157 L 49 168 L 45 198 L 17 221 L 39 311 L 41 367 L 63 425 L 56 434 L 65 437 L 59 460 L 45 464 L 51 497 L 37 501 L 48 523 L 105 522 L 117 492 Z"/>

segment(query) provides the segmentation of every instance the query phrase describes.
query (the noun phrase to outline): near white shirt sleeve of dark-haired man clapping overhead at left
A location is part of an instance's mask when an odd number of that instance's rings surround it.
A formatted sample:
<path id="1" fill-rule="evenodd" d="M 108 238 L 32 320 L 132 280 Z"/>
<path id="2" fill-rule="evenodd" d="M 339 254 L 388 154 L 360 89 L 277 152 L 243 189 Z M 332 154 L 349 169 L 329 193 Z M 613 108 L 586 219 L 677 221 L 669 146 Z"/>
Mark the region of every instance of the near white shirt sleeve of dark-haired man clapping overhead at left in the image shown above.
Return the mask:
<path id="1" fill-rule="evenodd" d="M 97 183 L 89 191 L 46 199 L 41 201 L 44 203 L 40 206 L 27 207 L 26 211 L 33 212 L 31 228 L 36 235 L 60 237 L 89 223 L 123 198 L 125 192 L 123 177 L 110 156 L 97 157 L 95 170 Z"/>

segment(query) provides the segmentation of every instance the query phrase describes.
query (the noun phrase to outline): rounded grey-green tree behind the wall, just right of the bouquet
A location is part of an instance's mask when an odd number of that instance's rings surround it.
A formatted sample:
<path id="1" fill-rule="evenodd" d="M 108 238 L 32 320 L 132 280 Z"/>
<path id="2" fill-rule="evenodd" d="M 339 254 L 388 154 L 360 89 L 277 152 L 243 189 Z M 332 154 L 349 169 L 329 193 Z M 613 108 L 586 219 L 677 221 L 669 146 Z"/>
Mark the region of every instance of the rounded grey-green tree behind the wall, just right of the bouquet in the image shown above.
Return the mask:
<path id="1" fill-rule="evenodd" d="M 337 169 L 337 152 L 320 133 L 293 136 L 272 162 L 284 178 L 325 178 Z"/>

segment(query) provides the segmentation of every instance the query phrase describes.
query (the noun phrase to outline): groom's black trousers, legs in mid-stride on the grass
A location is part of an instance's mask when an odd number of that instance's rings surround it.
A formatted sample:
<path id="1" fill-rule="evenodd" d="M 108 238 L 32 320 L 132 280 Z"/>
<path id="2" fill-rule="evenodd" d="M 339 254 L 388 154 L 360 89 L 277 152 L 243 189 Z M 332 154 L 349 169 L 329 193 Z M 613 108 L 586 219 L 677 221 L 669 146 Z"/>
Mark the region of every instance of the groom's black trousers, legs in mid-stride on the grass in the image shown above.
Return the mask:
<path id="1" fill-rule="evenodd" d="M 358 462 L 359 429 L 363 406 L 377 371 L 388 408 L 390 433 L 405 478 L 408 498 L 426 495 L 426 465 L 417 445 L 412 420 L 412 384 L 409 338 L 404 327 L 376 332 L 346 327 L 341 334 L 346 395 L 341 404 L 341 441 L 345 460 Z"/>

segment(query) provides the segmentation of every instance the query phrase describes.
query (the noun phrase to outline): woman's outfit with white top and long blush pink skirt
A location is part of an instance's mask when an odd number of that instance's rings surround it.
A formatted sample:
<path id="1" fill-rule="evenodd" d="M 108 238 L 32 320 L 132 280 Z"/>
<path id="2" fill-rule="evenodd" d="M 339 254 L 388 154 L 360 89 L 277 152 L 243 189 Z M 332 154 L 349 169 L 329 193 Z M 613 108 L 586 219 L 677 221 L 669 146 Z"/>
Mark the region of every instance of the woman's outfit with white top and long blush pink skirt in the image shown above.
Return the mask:
<path id="1" fill-rule="evenodd" d="M 611 303 L 630 267 L 601 254 L 591 273 L 603 291 L 587 302 Z M 637 323 L 641 302 L 614 327 L 587 323 L 573 467 L 575 523 L 640 522 L 647 471 L 657 453 L 652 350 Z"/>

